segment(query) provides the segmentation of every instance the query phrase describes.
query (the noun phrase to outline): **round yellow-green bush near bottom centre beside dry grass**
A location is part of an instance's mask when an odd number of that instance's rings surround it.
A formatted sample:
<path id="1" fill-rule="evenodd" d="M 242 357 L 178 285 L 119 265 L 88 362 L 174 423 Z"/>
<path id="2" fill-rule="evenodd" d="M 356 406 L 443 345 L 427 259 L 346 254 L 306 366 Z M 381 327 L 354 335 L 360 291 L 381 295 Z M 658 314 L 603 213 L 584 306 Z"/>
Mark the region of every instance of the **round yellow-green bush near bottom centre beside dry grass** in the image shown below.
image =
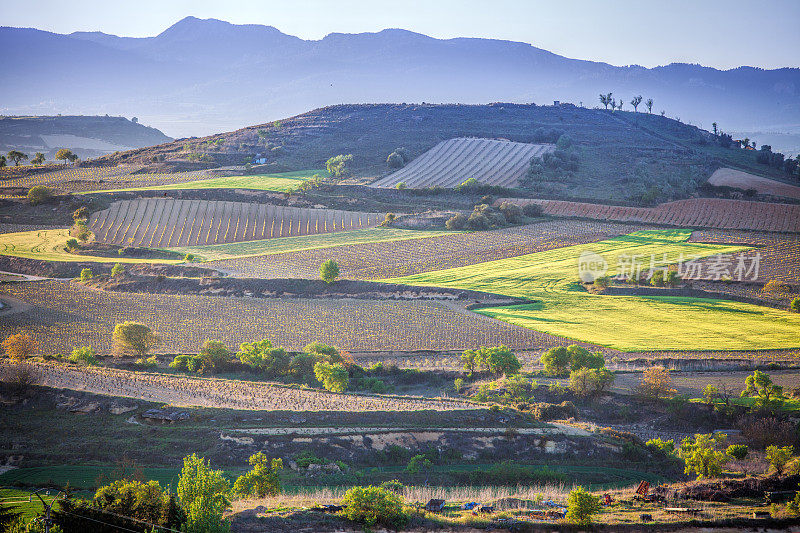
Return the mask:
<path id="1" fill-rule="evenodd" d="M 400 529 L 408 521 L 402 498 L 380 487 L 353 487 L 345 493 L 342 505 L 342 516 L 366 526 L 381 524 Z"/>

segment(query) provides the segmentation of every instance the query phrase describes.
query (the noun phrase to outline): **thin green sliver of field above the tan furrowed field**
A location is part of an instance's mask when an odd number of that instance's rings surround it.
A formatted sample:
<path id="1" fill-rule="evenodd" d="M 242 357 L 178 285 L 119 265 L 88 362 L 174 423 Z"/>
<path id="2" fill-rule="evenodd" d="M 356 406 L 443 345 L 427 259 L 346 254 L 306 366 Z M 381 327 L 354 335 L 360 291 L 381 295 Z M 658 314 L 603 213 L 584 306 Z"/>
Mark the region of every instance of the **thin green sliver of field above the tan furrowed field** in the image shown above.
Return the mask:
<path id="1" fill-rule="evenodd" d="M 104 192 L 125 191 L 174 191 L 179 189 L 252 189 L 256 191 L 291 192 L 304 181 L 315 175 L 326 178 L 326 170 L 297 170 L 276 174 L 257 174 L 252 176 L 225 176 L 207 180 L 185 181 L 169 185 L 151 185 L 149 187 L 132 187 L 129 189 L 108 189 L 104 191 L 88 191 L 80 194 L 97 194 Z"/>

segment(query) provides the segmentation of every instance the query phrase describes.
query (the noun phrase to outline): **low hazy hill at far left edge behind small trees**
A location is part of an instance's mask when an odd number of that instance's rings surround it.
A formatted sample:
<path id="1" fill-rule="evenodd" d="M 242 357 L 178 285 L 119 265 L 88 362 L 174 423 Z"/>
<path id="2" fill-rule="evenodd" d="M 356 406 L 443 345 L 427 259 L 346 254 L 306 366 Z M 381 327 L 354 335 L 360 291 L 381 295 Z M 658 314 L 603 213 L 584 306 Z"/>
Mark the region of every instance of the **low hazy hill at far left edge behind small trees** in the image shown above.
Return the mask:
<path id="1" fill-rule="evenodd" d="M 53 159 L 69 148 L 81 159 L 172 141 L 159 130 L 125 117 L 0 117 L 0 152 L 42 152 Z"/>

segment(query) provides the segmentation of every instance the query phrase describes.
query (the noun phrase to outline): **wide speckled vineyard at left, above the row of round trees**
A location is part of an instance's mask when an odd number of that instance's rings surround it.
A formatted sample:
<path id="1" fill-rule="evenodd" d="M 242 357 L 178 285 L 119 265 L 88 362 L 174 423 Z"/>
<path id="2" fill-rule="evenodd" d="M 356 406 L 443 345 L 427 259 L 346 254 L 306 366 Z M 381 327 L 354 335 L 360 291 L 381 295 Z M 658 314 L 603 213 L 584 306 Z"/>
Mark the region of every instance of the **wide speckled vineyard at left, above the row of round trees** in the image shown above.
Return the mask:
<path id="1" fill-rule="evenodd" d="M 234 298 L 104 292 L 60 281 L 0 285 L 31 307 L 4 316 L 0 337 L 27 332 L 42 353 L 93 346 L 109 353 L 114 325 L 142 322 L 161 335 L 160 353 L 196 353 L 206 339 L 230 347 L 269 338 L 302 349 L 318 340 L 349 351 L 464 350 L 480 345 L 552 346 L 549 335 L 459 311 L 446 302 Z"/>

